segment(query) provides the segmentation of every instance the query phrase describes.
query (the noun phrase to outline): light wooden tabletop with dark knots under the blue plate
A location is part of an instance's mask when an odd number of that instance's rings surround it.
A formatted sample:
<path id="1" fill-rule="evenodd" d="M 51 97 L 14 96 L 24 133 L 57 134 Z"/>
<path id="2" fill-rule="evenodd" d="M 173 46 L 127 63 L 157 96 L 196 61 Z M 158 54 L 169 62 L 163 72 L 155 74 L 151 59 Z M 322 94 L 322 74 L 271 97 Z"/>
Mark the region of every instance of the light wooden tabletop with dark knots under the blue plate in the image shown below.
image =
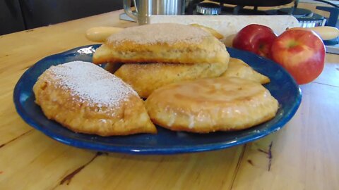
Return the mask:
<path id="1" fill-rule="evenodd" d="M 339 56 L 301 87 L 302 104 L 275 134 L 220 151 L 172 156 L 97 153 L 27 125 L 13 88 L 44 56 L 93 44 L 95 26 L 129 27 L 121 11 L 0 36 L 0 189 L 339 189 Z"/>

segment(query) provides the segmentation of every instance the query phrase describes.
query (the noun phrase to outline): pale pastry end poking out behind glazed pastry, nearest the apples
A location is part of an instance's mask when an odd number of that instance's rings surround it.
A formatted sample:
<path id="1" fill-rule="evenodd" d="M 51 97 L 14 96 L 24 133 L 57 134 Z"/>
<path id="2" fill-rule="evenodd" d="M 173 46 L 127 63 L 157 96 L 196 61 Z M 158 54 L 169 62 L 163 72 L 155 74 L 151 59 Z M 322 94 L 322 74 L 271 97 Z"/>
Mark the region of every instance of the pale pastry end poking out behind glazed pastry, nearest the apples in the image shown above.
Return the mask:
<path id="1" fill-rule="evenodd" d="M 246 80 L 253 80 L 261 84 L 270 82 L 268 77 L 256 72 L 239 58 L 230 58 L 228 68 L 224 73 L 222 73 L 221 77 L 240 77 Z"/>

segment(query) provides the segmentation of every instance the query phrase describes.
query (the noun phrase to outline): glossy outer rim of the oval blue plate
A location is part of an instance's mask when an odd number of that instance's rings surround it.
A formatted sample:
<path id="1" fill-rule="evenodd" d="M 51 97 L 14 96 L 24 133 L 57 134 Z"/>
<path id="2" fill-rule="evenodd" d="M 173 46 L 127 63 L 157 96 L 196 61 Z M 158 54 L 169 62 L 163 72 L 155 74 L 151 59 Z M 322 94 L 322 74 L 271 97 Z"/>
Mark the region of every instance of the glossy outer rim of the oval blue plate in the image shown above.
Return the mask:
<path id="1" fill-rule="evenodd" d="M 77 49 L 83 49 L 83 48 L 88 48 L 90 46 L 99 46 L 100 44 L 92 44 L 92 45 L 87 45 L 87 46 L 78 46 L 74 49 L 69 49 L 68 51 L 63 51 L 60 53 L 53 54 L 51 56 L 46 56 L 42 58 L 40 61 L 37 61 L 37 63 L 41 63 L 42 61 L 53 58 L 54 56 L 59 56 L 61 54 L 66 54 L 66 53 L 71 53 Z M 239 51 L 236 49 L 232 49 L 227 47 L 227 50 L 232 50 L 232 51 Z M 244 52 L 244 53 L 249 53 L 249 52 Z M 251 53 L 253 54 L 253 53 Z M 255 55 L 255 54 L 254 54 Z M 255 55 L 257 56 L 257 55 Z M 260 56 L 258 56 L 260 57 Z M 262 58 L 262 57 L 260 57 Z M 264 58 L 266 59 L 266 58 Z M 268 60 L 270 61 L 270 60 Z M 270 61 L 272 62 L 272 61 Z M 16 107 L 16 111 L 18 115 L 20 115 L 23 120 L 28 123 L 28 125 L 34 127 L 35 129 L 39 130 L 40 132 L 44 133 L 47 135 L 47 137 L 50 137 L 56 141 L 59 141 L 63 144 L 67 144 L 70 146 L 75 146 L 77 148 L 85 148 L 85 149 L 90 149 L 93 151 L 104 151 L 104 152 L 116 152 L 116 153 L 131 153 L 131 154 L 145 154 L 145 155 L 168 155 L 168 154 L 176 154 L 176 153 L 195 153 L 195 152 L 201 152 L 201 151 L 214 151 L 214 150 L 220 150 L 224 148 L 230 148 L 232 146 L 237 146 L 241 144 L 246 144 L 251 141 L 256 141 L 257 139 L 261 139 L 262 137 L 266 137 L 269 134 L 272 134 L 273 132 L 277 132 L 279 129 L 285 126 L 285 124 L 292 119 L 292 117 L 295 115 L 297 112 L 300 103 L 302 101 L 302 91 L 299 88 L 299 85 L 295 82 L 295 80 L 290 76 L 290 80 L 294 82 L 294 85 L 297 86 L 299 94 L 297 94 L 297 99 L 295 100 L 295 103 L 293 104 L 292 108 L 289 110 L 288 113 L 286 113 L 285 117 L 281 118 L 278 123 L 275 124 L 275 127 L 270 127 L 268 130 L 266 130 L 265 133 L 258 133 L 258 134 L 250 134 L 246 137 L 238 138 L 237 141 L 233 142 L 220 142 L 220 143 L 215 143 L 215 144 L 207 144 L 207 145 L 199 145 L 198 147 L 191 145 L 191 146 L 168 146 L 168 147 L 162 147 L 162 148 L 148 148 L 148 147 L 143 147 L 143 146 L 105 146 L 102 144 L 93 144 L 89 143 L 87 141 L 78 141 L 77 139 L 69 139 L 68 137 L 64 137 L 59 134 L 54 134 L 49 132 L 48 129 L 44 129 L 42 126 L 38 125 L 35 120 L 32 118 L 29 118 L 28 115 L 25 114 L 25 109 L 23 106 L 19 103 L 20 99 L 20 85 L 23 83 L 23 79 L 25 79 L 25 76 L 28 75 L 28 73 L 31 70 L 34 70 L 35 67 L 37 67 L 37 63 L 32 65 L 32 67 L 28 68 L 23 75 L 20 77 L 18 82 L 16 83 L 16 86 L 13 91 L 13 101 Z M 284 72 L 287 72 L 285 68 L 281 67 L 278 65 L 281 70 L 284 70 Z M 287 72 L 288 73 L 288 72 Z M 155 134 L 157 135 L 157 134 Z"/>

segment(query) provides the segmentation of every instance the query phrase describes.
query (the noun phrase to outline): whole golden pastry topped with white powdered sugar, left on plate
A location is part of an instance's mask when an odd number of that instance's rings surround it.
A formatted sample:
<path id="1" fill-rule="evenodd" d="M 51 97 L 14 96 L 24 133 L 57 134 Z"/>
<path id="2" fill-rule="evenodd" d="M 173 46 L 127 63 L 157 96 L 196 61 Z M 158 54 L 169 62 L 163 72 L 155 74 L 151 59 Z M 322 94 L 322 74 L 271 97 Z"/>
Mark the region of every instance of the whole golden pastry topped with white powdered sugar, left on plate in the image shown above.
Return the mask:
<path id="1" fill-rule="evenodd" d="M 44 115 L 74 132 L 100 136 L 157 132 L 136 91 L 93 63 L 52 66 L 33 91 Z"/>

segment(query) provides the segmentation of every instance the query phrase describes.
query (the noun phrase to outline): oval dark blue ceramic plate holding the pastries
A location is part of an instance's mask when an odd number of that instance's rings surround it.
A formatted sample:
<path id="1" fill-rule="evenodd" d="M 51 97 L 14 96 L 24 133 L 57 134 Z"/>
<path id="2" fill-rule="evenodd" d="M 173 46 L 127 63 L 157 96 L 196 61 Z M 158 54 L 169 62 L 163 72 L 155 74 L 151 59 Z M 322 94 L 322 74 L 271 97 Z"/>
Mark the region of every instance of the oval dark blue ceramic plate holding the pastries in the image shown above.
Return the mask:
<path id="1" fill-rule="evenodd" d="M 44 116 L 40 107 L 34 103 L 32 87 L 37 81 L 37 77 L 51 65 L 69 61 L 91 61 L 93 52 L 98 46 L 83 46 L 48 56 L 38 61 L 23 74 L 14 89 L 14 103 L 16 110 L 25 122 L 52 139 L 78 148 L 136 154 L 189 153 L 245 144 L 276 132 L 295 115 L 302 99 L 295 80 L 280 65 L 253 53 L 228 48 L 227 51 L 232 57 L 241 58 L 258 72 L 270 77 L 271 82 L 265 87 L 280 103 L 278 113 L 273 120 L 239 132 L 210 134 L 172 132 L 162 127 L 157 127 L 158 134 L 134 134 L 126 137 L 99 137 L 71 132 Z"/>

